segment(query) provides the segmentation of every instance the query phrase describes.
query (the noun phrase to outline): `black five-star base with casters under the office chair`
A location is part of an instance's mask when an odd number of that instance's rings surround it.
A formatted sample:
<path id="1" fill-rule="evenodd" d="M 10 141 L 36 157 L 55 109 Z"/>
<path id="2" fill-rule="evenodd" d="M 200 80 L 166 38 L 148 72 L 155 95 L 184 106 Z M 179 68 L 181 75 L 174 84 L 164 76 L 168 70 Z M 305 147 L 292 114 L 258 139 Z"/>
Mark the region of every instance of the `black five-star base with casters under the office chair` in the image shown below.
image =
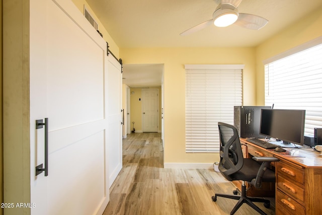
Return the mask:
<path id="1" fill-rule="evenodd" d="M 261 208 L 259 208 L 256 204 L 254 204 L 254 202 L 264 202 L 264 206 L 266 208 L 269 208 L 271 205 L 271 202 L 268 199 L 248 197 L 246 195 L 245 181 L 243 181 L 243 184 L 241 185 L 241 194 L 240 195 L 233 195 L 233 194 L 229 195 L 229 194 L 216 193 L 214 196 L 211 197 L 212 200 L 217 201 L 217 196 L 238 200 L 237 204 L 234 206 L 234 208 L 230 212 L 231 215 L 234 214 L 237 211 L 237 209 L 244 203 L 247 203 L 252 208 L 254 208 L 257 212 L 259 212 L 260 214 L 263 214 L 263 215 L 266 215 L 266 213 L 263 210 L 261 210 Z"/>

